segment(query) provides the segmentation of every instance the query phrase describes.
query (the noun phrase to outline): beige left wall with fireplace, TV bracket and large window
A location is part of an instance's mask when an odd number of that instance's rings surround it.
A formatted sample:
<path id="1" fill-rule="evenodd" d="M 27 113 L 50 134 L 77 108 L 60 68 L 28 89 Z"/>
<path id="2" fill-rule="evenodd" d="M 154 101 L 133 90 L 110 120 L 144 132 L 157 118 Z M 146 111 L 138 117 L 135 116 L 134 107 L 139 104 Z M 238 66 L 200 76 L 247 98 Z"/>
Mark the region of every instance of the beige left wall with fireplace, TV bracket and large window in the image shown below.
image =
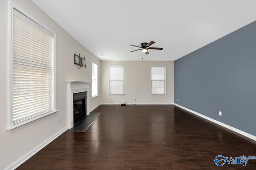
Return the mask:
<path id="1" fill-rule="evenodd" d="M 0 169 L 34 152 L 41 144 L 62 133 L 67 128 L 66 80 L 91 81 L 92 60 L 100 61 L 72 38 L 30 0 L 12 0 L 22 12 L 56 33 L 56 108 L 59 110 L 45 119 L 13 132 L 6 130 L 8 117 L 8 0 L 0 0 Z M 86 57 L 86 68 L 74 65 L 74 53 Z M 98 75 L 100 77 L 100 74 Z M 100 83 L 100 81 L 98 81 Z M 100 86 L 98 86 L 100 87 Z M 100 104 L 100 96 L 90 98 L 90 109 Z M 58 123 L 58 118 L 62 122 Z M 20 148 L 22 147 L 22 148 Z M 21 161 L 21 160 L 20 160 Z M 17 162 L 16 162 L 17 163 Z"/>

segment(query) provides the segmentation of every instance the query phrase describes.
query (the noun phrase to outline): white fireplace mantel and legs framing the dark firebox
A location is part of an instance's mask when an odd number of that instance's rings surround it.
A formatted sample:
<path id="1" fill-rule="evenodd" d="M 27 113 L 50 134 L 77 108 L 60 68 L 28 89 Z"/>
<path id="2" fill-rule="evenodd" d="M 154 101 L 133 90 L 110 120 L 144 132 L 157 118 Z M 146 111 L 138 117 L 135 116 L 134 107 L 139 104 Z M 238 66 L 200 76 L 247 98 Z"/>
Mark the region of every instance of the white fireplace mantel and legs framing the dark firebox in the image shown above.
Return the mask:
<path id="1" fill-rule="evenodd" d="M 68 128 L 72 128 L 74 126 L 74 108 L 73 108 L 73 94 L 86 92 L 86 115 L 89 115 L 89 98 L 90 98 L 90 86 L 89 84 L 92 82 L 82 82 L 75 80 L 67 80 L 68 84 L 67 92 L 68 92 Z"/>

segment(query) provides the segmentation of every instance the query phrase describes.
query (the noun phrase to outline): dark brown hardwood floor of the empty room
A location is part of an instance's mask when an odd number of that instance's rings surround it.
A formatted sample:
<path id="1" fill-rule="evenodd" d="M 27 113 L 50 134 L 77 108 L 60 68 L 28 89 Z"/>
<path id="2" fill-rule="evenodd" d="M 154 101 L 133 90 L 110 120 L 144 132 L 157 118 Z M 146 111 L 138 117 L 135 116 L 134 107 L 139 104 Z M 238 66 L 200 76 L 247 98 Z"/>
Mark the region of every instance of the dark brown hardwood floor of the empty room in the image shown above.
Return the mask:
<path id="1" fill-rule="evenodd" d="M 65 132 L 17 169 L 256 169 L 216 166 L 217 155 L 256 156 L 256 141 L 173 105 L 101 105 L 84 133 Z"/>

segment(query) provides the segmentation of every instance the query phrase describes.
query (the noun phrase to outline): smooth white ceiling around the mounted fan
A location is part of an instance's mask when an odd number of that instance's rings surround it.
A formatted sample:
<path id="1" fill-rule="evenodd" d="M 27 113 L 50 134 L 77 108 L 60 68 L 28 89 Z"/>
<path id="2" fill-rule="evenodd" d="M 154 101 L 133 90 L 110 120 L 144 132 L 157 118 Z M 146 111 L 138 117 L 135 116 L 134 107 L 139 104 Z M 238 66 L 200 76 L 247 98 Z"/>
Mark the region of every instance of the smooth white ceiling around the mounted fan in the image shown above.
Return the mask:
<path id="1" fill-rule="evenodd" d="M 256 0 L 32 1 L 100 60 L 174 61 L 256 20 Z"/>

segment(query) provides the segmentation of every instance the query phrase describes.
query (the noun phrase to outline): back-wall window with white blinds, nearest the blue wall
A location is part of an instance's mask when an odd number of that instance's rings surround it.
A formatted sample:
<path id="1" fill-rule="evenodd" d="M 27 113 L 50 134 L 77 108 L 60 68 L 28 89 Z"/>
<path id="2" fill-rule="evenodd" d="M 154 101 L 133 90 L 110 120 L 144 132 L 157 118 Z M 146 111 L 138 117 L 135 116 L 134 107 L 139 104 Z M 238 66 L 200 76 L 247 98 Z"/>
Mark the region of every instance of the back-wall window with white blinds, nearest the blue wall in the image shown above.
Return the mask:
<path id="1" fill-rule="evenodd" d="M 151 66 L 151 94 L 166 94 L 166 66 Z"/>

